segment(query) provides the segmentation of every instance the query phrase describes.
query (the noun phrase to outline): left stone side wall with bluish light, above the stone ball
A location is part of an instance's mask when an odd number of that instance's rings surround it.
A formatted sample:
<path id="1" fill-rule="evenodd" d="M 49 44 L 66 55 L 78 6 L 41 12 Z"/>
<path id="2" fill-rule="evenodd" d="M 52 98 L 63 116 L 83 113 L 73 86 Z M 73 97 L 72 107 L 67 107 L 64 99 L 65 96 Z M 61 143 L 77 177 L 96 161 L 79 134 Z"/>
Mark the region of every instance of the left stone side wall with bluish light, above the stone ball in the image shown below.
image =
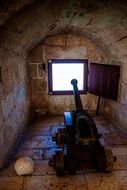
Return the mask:
<path id="1" fill-rule="evenodd" d="M 0 167 L 29 120 L 26 62 L 12 52 L 4 55 L 0 62 Z"/>

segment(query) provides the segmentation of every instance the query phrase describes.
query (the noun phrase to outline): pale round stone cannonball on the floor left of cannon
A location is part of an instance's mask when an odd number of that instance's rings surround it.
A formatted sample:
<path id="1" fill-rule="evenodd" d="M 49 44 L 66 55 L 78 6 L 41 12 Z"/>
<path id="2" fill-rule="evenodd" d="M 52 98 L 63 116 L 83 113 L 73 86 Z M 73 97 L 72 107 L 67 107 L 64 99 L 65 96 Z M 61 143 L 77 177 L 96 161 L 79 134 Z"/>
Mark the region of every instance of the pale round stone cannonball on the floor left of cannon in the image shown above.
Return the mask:
<path id="1" fill-rule="evenodd" d="M 18 175 L 28 175 L 34 171 L 34 162 L 30 157 L 19 158 L 14 165 Z"/>

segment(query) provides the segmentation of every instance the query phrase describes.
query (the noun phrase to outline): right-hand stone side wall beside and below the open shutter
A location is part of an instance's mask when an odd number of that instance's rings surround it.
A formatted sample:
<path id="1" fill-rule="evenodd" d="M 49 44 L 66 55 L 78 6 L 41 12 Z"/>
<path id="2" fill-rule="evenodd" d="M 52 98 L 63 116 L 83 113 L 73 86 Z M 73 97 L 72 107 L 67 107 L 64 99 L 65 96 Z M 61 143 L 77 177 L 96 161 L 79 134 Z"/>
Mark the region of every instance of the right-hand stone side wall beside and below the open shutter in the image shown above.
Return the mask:
<path id="1" fill-rule="evenodd" d="M 121 64 L 121 75 L 119 81 L 119 94 L 117 101 L 105 100 L 104 112 L 112 118 L 119 127 L 127 130 L 127 58 L 123 57 L 124 64 Z"/>

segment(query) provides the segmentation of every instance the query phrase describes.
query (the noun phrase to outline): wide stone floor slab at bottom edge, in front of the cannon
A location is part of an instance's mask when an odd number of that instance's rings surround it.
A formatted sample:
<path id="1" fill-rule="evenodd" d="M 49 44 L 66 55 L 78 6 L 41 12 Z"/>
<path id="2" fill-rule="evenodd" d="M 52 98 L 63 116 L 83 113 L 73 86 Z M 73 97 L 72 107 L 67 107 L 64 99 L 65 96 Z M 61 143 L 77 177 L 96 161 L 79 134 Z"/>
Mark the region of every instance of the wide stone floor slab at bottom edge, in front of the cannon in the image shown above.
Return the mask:
<path id="1" fill-rule="evenodd" d="M 41 189 L 70 189 L 70 190 L 88 190 L 88 184 L 84 175 L 57 177 L 56 175 L 32 176 L 27 177 L 24 183 L 24 189 L 30 190 L 36 187 Z"/>

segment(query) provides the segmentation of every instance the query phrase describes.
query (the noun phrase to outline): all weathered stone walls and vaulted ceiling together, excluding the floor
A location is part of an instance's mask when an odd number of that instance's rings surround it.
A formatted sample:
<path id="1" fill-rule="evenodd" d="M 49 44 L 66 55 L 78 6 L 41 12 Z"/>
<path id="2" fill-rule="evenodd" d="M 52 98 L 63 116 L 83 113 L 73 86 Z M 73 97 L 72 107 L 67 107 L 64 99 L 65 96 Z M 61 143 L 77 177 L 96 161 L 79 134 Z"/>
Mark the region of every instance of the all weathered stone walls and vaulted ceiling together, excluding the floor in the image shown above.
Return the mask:
<path id="1" fill-rule="evenodd" d="M 30 101 L 32 112 L 38 114 L 60 114 L 74 106 L 71 96 L 48 95 L 47 60 L 51 58 L 85 57 L 89 61 L 120 65 L 118 100 L 105 99 L 104 110 L 126 129 L 126 1 L 90 0 L 86 3 L 78 0 L 14 0 L 10 1 L 10 4 L 6 4 L 7 1 L 2 2 L 4 7 L 0 12 L 0 167 L 7 151 L 26 125 Z M 27 59 L 28 57 L 30 59 Z M 35 92 L 32 91 L 35 87 L 32 89 L 31 86 L 35 84 L 34 80 L 40 80 Z M 85 108 L 96 109 L 97 96 L 85 95 L 82 100 Z"/>

